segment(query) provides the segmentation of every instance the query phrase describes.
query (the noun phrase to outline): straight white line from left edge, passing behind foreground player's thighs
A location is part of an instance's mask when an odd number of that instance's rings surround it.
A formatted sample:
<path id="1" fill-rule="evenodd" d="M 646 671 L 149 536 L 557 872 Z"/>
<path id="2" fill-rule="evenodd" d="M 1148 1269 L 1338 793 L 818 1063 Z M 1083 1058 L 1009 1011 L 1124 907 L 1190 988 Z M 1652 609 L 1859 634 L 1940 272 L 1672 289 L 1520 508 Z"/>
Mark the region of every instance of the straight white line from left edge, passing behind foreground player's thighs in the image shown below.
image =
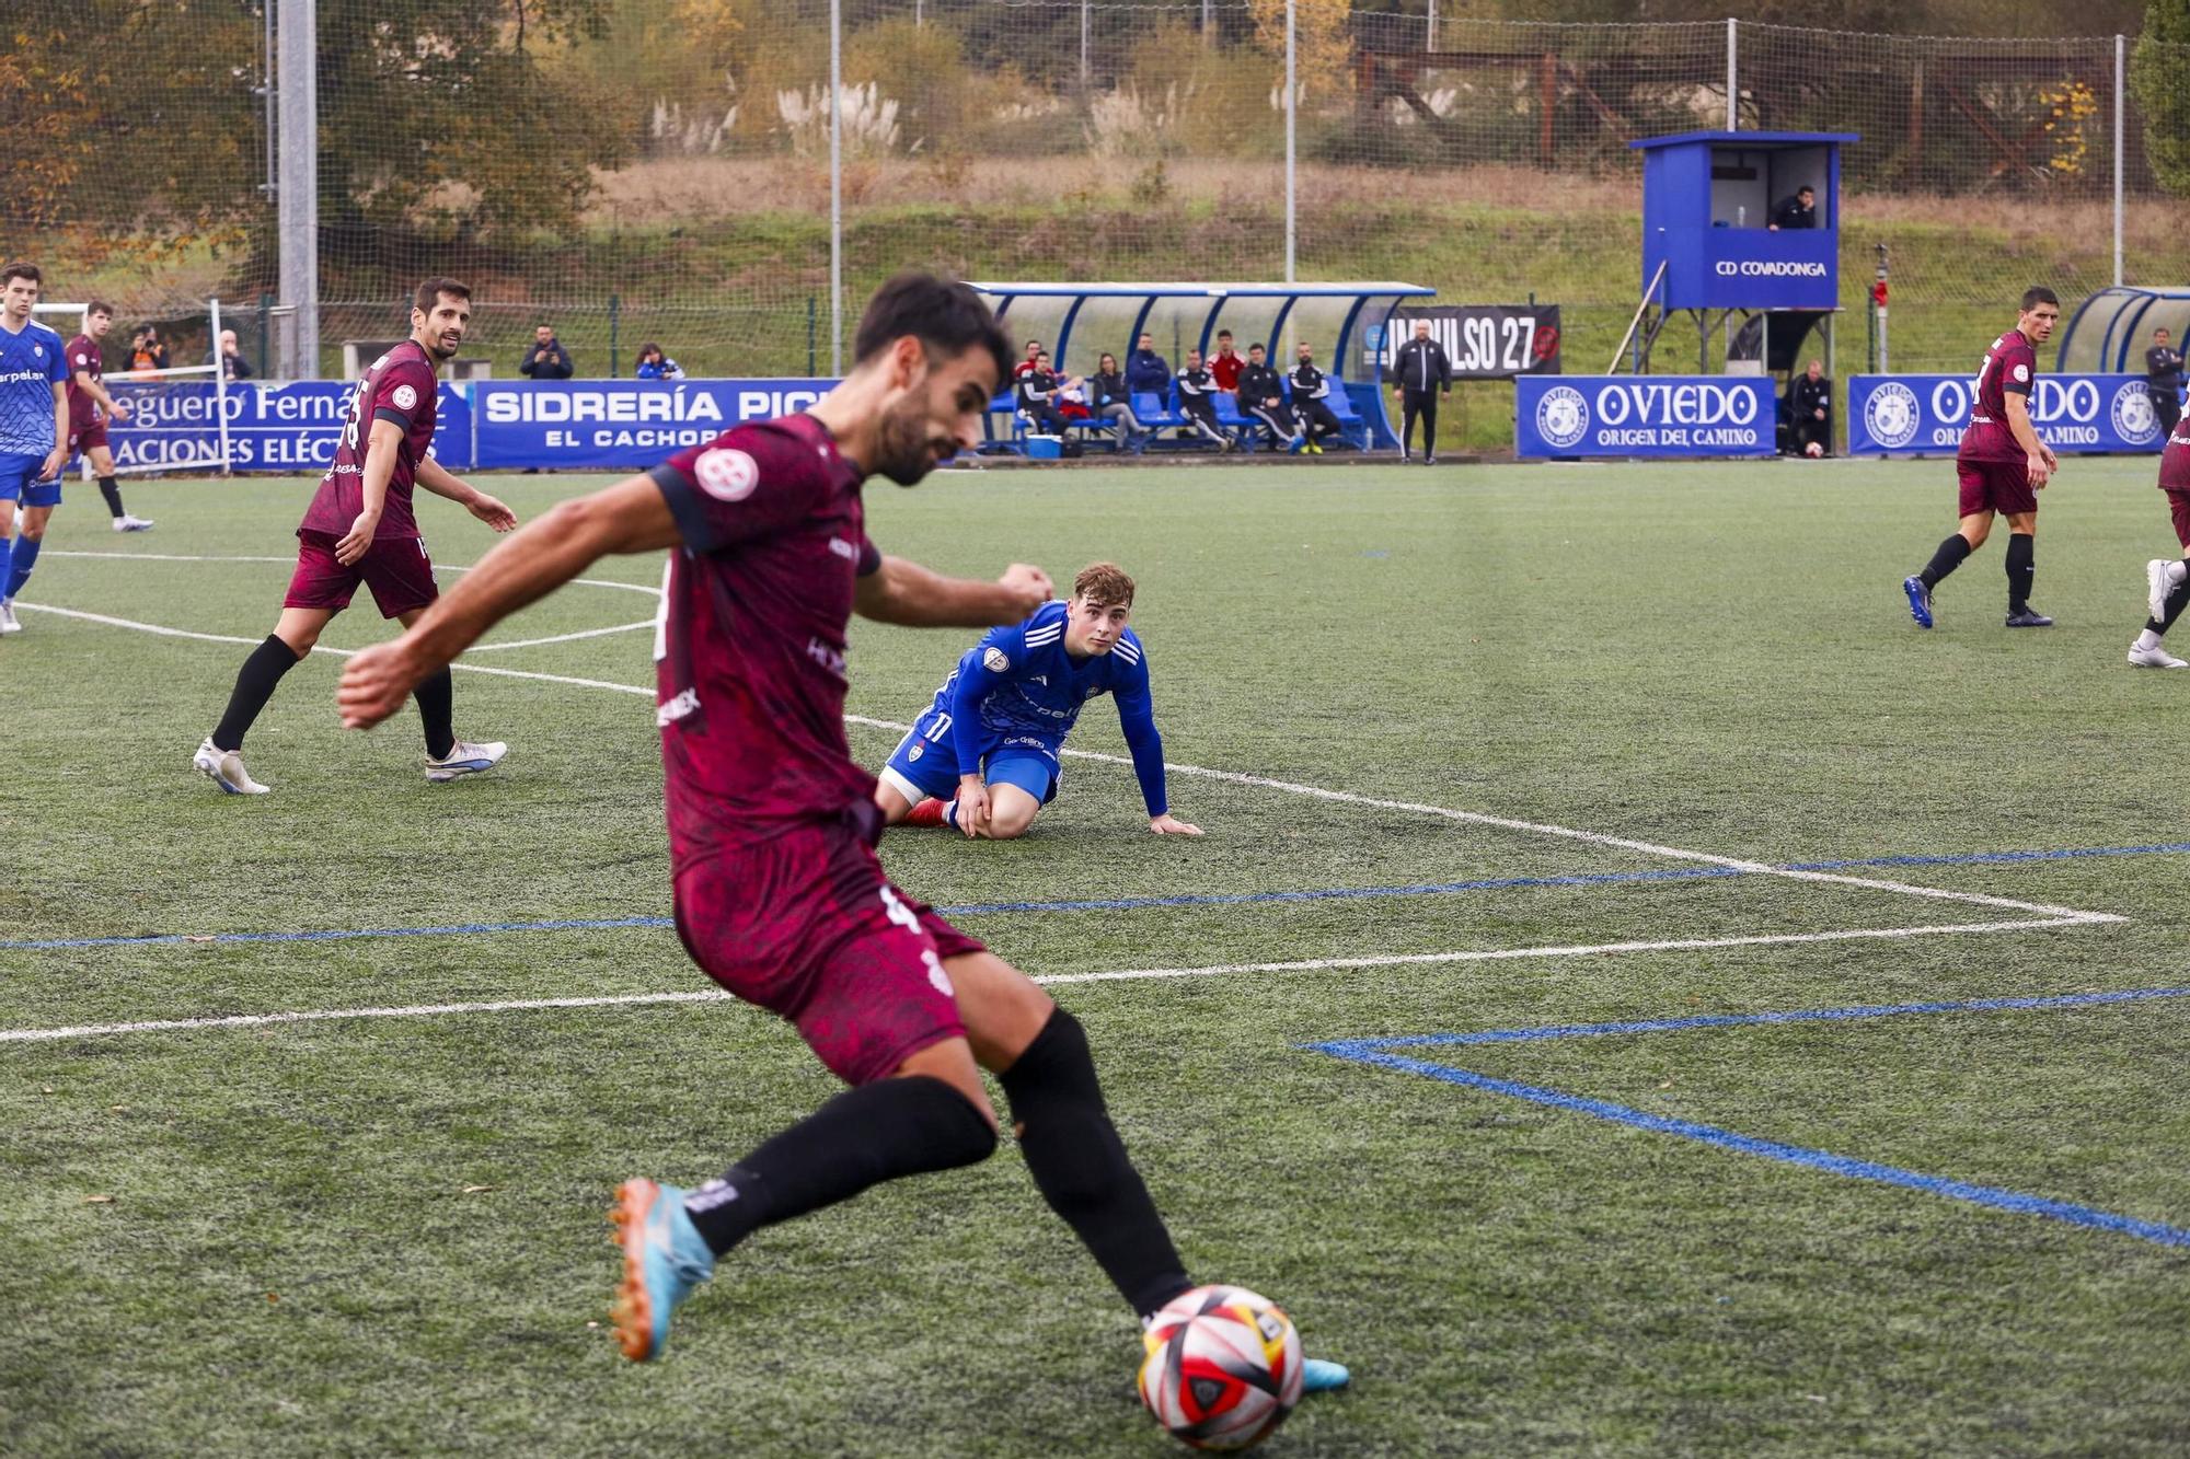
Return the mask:
<path id="1" fill-rule="evenodd" d="M 2026 931 L 2032 927 L 2078 927 L 2085 918 L 2041 922 L 1962 922 L 1958 927 L 1866 927 L 1826 933 L 1765 933 L 1752 938 L 1678 938 L 1667 942 L 1594 942 L 1586 946 L 1513 946 L 1456 953 L 1393 953 L 1384 957 L 1312 957 L 1305 962 L 1229 962 L 1202 968 L 1126 968 L 1119 973 L 1047 973 L 1036 984 L 1117 984 L 1159 977 L 1224 977 L 1231 973 L 1338 973 L 1353 968 L 1402 968 L 1452 962 L 1511 962 L 1518 957 L 1594 957 L 1607 953 L 1686 953 L 1726 946 L 1770 946 L 1785 942 L 1851 942 L 1857 938 L 1940 938 L 1951 933 Z M 335 1019 L 438 1019 L 449 1014 L 541 1012 L 556 1008 L 635 1008 L 648 1003 L 736 1003 L 729 992 L 620 992 L 580 999 L 499 999 L 493 1003 L 410 1003 L 396 1008 L 313 1008 L 272 1014 L 226 1014 L 210 1019 L 149 1019 L 142 1023 L 79 1023 L 74 1027 L 0 1030 L 0 1043 L 55 1043 L 61 1038 L 110 1038 L 118 1034 L 173 1034 L 206 1027 L 267 1027 L 278 1023 L 328 1023 Z"/>

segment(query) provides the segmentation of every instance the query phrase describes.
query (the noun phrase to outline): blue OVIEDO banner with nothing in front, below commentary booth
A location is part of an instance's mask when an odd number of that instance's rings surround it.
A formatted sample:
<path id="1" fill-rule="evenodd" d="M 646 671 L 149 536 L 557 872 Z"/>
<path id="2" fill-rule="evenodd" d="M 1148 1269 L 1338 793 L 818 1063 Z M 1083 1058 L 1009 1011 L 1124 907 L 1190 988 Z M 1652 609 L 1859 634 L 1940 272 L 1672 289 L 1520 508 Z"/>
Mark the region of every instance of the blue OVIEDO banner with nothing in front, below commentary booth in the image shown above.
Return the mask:
<path id="1" fill-rule="evenodd" d="M 1772 456 L 1772 381 L 1752 375 L 1601 375 L 1513 381 L 1520 456 Z"/>

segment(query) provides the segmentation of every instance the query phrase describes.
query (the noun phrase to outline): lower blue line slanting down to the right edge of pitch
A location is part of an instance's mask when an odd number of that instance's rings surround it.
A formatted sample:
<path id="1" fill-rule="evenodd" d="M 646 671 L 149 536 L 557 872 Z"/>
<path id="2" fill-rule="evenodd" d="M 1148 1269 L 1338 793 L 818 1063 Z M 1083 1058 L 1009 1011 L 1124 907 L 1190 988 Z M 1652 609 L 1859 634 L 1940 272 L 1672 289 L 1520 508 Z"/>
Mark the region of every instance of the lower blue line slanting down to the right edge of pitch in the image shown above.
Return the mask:
<path id="1" fill-rule="evenodd" d="M 2170 988 L 2166 992 L 2183 992 L 2181 988 Z M 2155 990 L 2155 997 L 2159 990 Z M 2039 999 L 2043 1003 L 2043 999 Z M 1945 1008 L 1956 1008 L 1953 1003 Z M 1905 1010 L 1888 1010 L 1905 1012 Z M 1809 1170 L 1822 1170 L 1826 1174 L 1848 1176 L 1855 1181 L 1875 1181 L 1879 1185 L 1901 1185 L 1905 1190 L 1918 1190 L 1929 1196 L 1945 1196 L 1949 1200 L 1967 1200 L 1971 1205 L 1984 1205 L 1995 1211 L 2013 1211 L 2017 1216 L 2043 1216 L 2048 1220 L 2065 1220 L 2076 1227 L 2094 1227 L 2098 1231 L 2116 1231 L 2120 1236 L 2135 1236 L 2140 1240 L 2157 1242 L 2162 1247 L 2190 1247 L 2190 1231 L 2181 1227 L 2166 1227 L 2157 1220 L 2135 1220 L 2133 1216 L 2120 1216 L 2116 1211 L 2100 1211 L 2089 1205 L 2074 1205 L 2070 1200 L 2048 1200 L 2045 1196 L 2030 1196 L 2017 1190 L 2002 1190 L 1997 1185 L 1971 1185 L 1969 1181 L 1949 1181 L 1945 1176 L 1927 1176 L 1918 1170 L 1901 1170 L 1899 1165 L 1881 1165 L 1877 1161 L 1857 1161 L 1846 1154 L 1831 1154 L 1829 1150 L 1811 1150 L 1807 1146 L 1787 1146 L 1776 1139 L 1756 1139 L 1752 1135 L 1734 1135 L 1732 1130 L 1721 1130 L 1710 1124 L 1695 1124 L 1691 1119 L 1667 1119 L 1664 1115 L 1649 1115 L 1625 1104 L 1610 1104 L 1605 1100 L 1586 1100 L 1581 1095 L 1559 1093 L 1557 1089 L 1544 1089 L 1540 1084 L 1520 1084 L 1515 1080 L 1496 1080 L 1487 1073 L 1469 1073 L 1467 1069 L 1452 1069 L 1450 1065 L 1432 1065 L 1419 1058 L 1406 1058 L 1402 1054 L 1380 1054 L 1360 1045 L 1325 1043 L 1310 1045 L 1323 1054 L 1334 1054 L 1362 1065 L 1382 1065 L 1386 1069 L 1402 1069 L 1406 1073 L 1421 1073 L 1432 1080 L 1443 1080 L 1445 1084 L 1461 1084 L 1467 1089 L 1480 1089 L 1485 1093 L 1511 1095 L 1515 1100 L 1529 1100 L 1533 1104 L 1548 1104 L 1551 1108 L 1572 1111 L 1577 1115 L 1592 1115 L 1597 1119 L 1610 1119 L 1614 1124 L 1627 1124 L 1638 1130 L 1651 1130 L 1656 1135 L 1680 1135 L 1682 1139 L 1695 1139 L 1719 1150 L 1737 1150 L 1741 1154 L 1759 1154 L 1770 1161 L 1783 1161 L 1787 1165 L 1807 1165 Z"/>

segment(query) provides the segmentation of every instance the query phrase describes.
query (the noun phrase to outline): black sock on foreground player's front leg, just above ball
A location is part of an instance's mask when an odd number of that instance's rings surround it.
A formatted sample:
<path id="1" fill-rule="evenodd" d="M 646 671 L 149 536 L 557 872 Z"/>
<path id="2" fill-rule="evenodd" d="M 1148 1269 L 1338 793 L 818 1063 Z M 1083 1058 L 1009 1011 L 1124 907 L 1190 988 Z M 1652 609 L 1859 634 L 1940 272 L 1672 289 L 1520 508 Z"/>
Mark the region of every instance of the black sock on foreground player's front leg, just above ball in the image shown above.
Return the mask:
<path id="1" fill-rule="evenodd" d="M 1042 1200 L 1080 1233 L 1132 1310 L 1145 1319 L 1187 1290 L 1187 1266 L 1104 1108 L 1080 1021 L 1051 1012 L 999 1080 Z"/>

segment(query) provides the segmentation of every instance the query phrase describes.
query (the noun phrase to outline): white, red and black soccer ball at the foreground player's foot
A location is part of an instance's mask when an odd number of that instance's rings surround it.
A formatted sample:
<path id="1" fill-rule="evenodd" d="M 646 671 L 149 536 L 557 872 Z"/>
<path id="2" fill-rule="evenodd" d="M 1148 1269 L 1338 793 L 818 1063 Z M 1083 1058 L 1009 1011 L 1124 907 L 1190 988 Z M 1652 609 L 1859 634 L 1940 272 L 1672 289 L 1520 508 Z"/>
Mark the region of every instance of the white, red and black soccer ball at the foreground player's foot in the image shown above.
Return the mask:
<path id="1" fill-rule="evenodd" d="M 1301 1402 L 1301 1334 L 1244 1286 L 1198 1286 L 1148 1323 L 1141 1402 L 1194 1448 L 1248 1448 Z"/>

